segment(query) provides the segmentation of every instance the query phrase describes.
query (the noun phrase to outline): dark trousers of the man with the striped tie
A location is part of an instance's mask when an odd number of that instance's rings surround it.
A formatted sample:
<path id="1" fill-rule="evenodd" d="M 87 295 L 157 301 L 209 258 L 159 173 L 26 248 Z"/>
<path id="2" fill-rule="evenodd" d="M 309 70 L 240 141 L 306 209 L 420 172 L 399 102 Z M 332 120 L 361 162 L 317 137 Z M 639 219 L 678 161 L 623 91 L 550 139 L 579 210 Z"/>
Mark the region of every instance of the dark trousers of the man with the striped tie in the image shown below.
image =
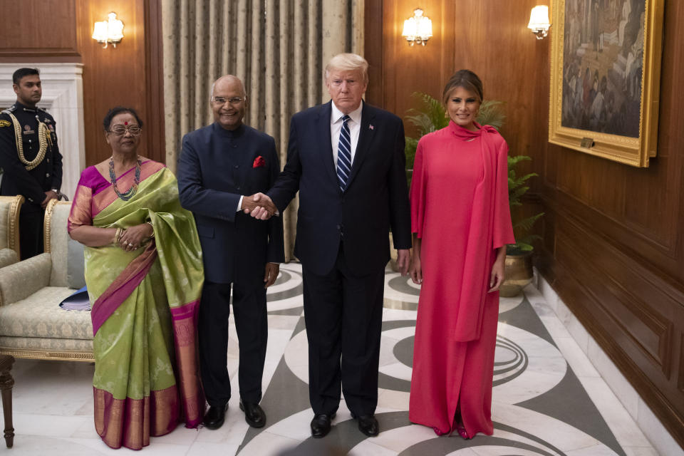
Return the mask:
<path id="1" fill-rule="evenodd" d="M 354 275 L 343 249 L 325 276 L 306 266 L 302 270 L 309 400 L 314 414 L 334 413 L 340 404 L 340 390 L 352 413 L 375 413 L 385 271 Z"/>

